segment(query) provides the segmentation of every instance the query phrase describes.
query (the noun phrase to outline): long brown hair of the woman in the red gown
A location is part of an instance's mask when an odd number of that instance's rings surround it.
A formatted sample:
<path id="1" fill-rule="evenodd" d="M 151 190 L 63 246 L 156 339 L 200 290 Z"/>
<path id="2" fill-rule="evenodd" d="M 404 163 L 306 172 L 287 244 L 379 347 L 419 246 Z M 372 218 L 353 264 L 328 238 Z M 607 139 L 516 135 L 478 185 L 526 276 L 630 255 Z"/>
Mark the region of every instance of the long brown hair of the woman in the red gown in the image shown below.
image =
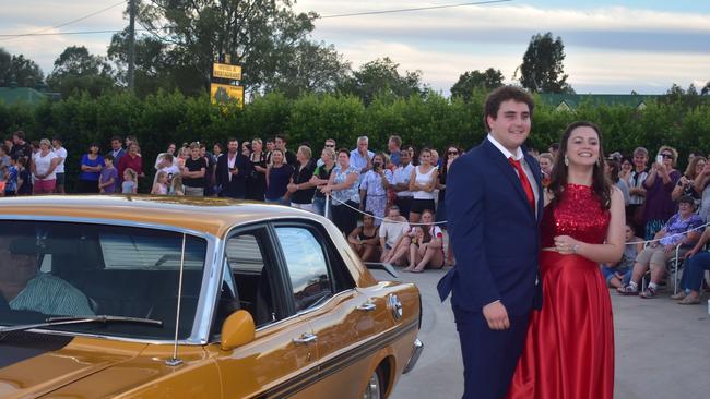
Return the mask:
<path id="1" fill-rule="evenodd" d="M 555 166 L 553 167 L 552 181 L 547 188 L 555 196 L 553 203 L 559 203 L 565 196 L 565 188 L 567 186 L 567 166 L 565 165 L 567 142 L 577 128 L 591 128 L 596 132 L 596 137 L 599 138 L 599 161 L 594 162 L 593 167 L 592 191 L 602 203 L 602 208 L 608 209 L 612 206 L 612 183 L 604 173 L 606 162 L 604 160 L 604 149 L 602 148 L 602 133 L 594 123 L 587 121 L 572 122 L 565 129 L 565 133 L 563 133 L 563 137 L 559 141 L 559 152 L 557 153 L 557 159 L 555 159 Z"/>

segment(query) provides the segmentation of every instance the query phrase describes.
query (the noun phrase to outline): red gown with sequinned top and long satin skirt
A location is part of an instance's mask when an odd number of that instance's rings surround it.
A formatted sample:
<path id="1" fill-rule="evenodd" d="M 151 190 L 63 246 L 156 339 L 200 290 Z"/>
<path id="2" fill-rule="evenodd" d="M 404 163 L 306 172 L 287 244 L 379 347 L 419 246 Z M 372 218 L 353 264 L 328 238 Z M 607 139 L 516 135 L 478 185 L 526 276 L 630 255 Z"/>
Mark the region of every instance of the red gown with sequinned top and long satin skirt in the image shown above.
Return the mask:
<path id="1" fill-rule="evenodd" d="M 569 184 L 545 209 L 542 246 L 556 235 L 601 244 L 610 218 L 591 188 Z M 614 321 L 599 264 L 543 251 L 540 265 L 543 307 L 531 314 L 508 398 L 613 399 Z"/>

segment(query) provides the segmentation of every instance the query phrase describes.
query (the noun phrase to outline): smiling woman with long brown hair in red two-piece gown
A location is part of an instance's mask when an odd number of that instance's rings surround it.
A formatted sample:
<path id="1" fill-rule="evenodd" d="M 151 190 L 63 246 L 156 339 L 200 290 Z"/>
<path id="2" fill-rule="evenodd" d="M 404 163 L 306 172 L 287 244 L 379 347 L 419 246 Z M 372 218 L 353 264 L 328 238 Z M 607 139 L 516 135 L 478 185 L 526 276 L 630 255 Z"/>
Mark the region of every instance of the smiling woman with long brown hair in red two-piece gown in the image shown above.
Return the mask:
<path id="1" fill-rule="evenodd" d="M 624 253 L 624 197 L 604 177 L 599 129 L 565 131 L 542 220 L 543 306 L 508 398 L 613 399 L 614 324 L 599 264 Z"/>

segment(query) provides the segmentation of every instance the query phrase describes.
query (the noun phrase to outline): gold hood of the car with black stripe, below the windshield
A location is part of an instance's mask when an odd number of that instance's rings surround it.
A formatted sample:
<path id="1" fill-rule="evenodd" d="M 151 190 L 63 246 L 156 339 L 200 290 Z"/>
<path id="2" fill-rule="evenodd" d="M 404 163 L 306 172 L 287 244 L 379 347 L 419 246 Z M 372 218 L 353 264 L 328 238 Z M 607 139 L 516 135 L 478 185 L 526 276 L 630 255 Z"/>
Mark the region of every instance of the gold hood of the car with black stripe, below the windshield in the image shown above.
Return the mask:
<path id="1" fill-rule="evenodd" d="M 145 343 L 12 334 L 0 341 L 0 397 L 36 398 L 135 358 Z"/>

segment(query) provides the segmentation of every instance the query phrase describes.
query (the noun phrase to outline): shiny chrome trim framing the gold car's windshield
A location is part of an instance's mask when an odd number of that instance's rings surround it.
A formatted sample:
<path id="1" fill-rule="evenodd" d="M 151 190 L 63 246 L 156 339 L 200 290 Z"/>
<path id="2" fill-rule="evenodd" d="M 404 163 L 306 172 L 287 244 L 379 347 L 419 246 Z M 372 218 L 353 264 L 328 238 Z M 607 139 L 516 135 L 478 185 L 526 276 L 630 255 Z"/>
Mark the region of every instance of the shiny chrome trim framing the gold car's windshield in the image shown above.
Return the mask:
<path id="1" fill-rule="evenodd" d="M 91 223 L 91 225 L 110 225 L 110 226 L 121 226 L 121 227 L 135 227 L 143 229 L 153 229 L 153 230 L 163 230 L 171 231 L 177 233 L 184 233 L 206 241 L 205 249 L 205 259 L 204 267 L 202 270 L 202 285 L 200 286 L 200 298 L 198 299 L 198 307 L 192 319 L 192 329 L 190 336 L 187 339 L 179 340 L 178 344 L 187 346 L 203 346 L 209 341 L 210 327 L 212 323 L 212 315 L 214 307 L 216 306 L 216 292 L 215 287 L 218 289 L 220 280 L 215 282 L 215 259 L 217 258 L 215 254 L 215 249 L 221 245 L 222 240 L 217 239 L 215 235 L 205 233 L 203 231 L 185 229 L 171 225 L 161 225 L 161 223 L 146 223 L 138 222 L 125 219 L 110 219 L 110 218 L 81 218 L 81 217 L 61 217 L 61 216 L 29 216 L 29 215 L 16 215 L 16 214 L 0 214 L 0 220 L 27 220 L 27 221 L 56 221 L 56 222 L 81 222 L 81 223 Z M 222 247 L 222 246 L 220 246 Z M 212 262 L 210 262 L 210 255 L 212 256 Z M 218 270 L 218 269 L 217 269 Z M 216 275 L 220 275 L 217 271 Z M 208 293 L 213 298 L 212 301 L 208 300 Z M 85 332 L 70 332 L 70 331 L 57 331 L 52 329 L 37 329 L 32 330 L 33 332 L 42 334 L 55 334 L 61 336 L 72 336 L 72 337 L 88 337 L 88 338 L 103 338 L 107 340 L 125 341 L 125 342 L 141 342 L 141 343 L 151 343 L 151 344 L 175 344 L 175 339 L 140 339 L 140 338 L 125 338 L 116 337 L 108 335 L 98 335 L 98 334 L 85 334 Z"/>

